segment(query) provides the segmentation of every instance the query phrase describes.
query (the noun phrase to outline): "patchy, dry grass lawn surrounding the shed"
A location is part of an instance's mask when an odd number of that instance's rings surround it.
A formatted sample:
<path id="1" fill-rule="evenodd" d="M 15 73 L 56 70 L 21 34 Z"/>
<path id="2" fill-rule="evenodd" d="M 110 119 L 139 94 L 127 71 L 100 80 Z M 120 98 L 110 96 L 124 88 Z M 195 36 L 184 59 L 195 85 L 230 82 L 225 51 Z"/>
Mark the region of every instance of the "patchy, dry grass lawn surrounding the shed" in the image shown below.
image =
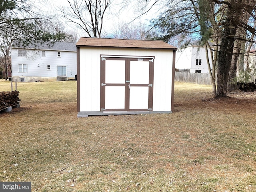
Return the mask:
<path id="1" fill-rule="evenodd" d="M 0 115 L 2 182 L 32 182 L 33 192 L 256 191 L 255 93 L 214 99 L 210 86 L 175 82 L 172 114 L 77 118 L 75 81 L 18 91 L 20 108 Z"/>

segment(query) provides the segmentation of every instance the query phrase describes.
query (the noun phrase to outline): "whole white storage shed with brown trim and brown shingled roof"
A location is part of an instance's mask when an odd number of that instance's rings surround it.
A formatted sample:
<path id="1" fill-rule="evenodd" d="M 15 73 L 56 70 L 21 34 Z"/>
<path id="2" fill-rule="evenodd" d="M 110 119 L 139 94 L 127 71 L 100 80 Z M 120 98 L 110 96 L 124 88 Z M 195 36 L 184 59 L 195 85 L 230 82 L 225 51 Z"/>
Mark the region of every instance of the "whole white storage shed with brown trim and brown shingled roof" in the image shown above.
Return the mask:
<path id="1" fill-rule="evenodd" d="M 176 47 L 88 37 L 76 47 L 78 117 L 173 111 Z"/>

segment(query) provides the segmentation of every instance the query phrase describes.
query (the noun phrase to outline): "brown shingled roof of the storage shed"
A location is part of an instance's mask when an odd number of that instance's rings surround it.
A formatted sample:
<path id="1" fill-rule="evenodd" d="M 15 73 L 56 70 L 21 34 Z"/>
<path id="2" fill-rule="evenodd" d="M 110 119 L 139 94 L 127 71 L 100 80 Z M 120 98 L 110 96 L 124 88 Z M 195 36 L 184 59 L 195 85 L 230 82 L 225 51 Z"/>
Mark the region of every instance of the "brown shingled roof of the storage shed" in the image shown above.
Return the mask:
<path id="1" fill-rule="evenodd" d="M 161 40 L 130 40 L 130 39 L 110 39 L 110 38 L 90 38 L 81 37 L 76 43 L 77 47 L 118 47 L 118 48 L 152 48 L 152 49 L 172 49 L 176 47 Z"/>

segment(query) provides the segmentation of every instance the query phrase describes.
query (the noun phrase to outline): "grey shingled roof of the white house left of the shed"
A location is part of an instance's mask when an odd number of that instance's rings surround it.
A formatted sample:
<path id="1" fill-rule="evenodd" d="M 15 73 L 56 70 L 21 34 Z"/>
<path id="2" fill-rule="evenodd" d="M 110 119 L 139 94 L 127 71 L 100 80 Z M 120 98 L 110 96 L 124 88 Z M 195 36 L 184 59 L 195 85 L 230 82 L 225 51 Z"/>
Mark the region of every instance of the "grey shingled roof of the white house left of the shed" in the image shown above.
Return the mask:
<path id="1" fill-rule="evenodd" d="M 76 52 L 76 43 L 48 41 L 48 42 L 31 42 L 29 44 L 25 44 L 23 42 L 15 41 L 12 44 L 12 48 Z"/>

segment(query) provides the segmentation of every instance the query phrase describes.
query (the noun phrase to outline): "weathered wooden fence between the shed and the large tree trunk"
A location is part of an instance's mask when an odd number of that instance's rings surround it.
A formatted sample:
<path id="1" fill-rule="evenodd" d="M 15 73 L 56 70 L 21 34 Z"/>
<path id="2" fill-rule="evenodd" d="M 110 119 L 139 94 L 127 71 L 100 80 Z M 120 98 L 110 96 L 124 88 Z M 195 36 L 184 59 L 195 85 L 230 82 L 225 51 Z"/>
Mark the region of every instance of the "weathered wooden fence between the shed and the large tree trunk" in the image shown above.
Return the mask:
<path id="1" fill-rule="evenodd" d="M 208 73 L 175 72 L 175 81 L 195 84 L 211 85 L 212 80 Z"/>

